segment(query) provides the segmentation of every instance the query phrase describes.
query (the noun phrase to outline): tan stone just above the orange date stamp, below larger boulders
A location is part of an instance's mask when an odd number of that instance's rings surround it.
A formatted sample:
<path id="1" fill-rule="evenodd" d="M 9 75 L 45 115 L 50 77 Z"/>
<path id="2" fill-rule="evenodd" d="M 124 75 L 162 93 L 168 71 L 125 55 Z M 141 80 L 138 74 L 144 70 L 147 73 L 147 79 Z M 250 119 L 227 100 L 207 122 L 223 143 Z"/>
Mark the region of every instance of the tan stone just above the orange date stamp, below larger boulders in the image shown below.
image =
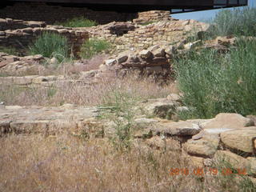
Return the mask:
<path id="1" fill-rule="evenodd" d="M 221 166 L 230 165 L 234 169 L 249 170 L 250 162 L 238 154 L 233 154 L 228 150 L 218 150 L 214 154 L 214 163 Z"/>

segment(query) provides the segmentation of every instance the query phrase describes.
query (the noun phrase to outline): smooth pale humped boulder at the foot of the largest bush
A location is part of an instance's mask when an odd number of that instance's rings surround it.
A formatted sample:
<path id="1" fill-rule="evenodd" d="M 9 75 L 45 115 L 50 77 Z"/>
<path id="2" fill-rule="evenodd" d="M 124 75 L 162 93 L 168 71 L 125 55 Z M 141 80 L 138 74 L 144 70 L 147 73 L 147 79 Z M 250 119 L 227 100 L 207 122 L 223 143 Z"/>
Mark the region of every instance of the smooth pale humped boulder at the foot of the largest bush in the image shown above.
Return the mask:
<path id="1" fill-rule="evenodd" d="M 202 129 L 240 129 L 246 126 L 254 126 L 250 118 L 244 118 L 241 114 L 218 114 L 209 122 L 200 125 Z"/>

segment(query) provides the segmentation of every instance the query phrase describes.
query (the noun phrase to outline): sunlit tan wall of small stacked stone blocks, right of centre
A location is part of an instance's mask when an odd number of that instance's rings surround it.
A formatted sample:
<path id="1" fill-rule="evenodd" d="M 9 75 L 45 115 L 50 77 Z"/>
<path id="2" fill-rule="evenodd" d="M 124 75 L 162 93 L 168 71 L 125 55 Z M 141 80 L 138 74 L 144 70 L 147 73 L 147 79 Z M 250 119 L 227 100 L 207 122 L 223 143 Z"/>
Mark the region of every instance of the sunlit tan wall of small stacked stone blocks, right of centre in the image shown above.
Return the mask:
<path id="1" fill-rule="evenodd" d="M 157 11 L 156 11 L 157 12 Z M 178 20 L 168 18 L 168 20 L 153 22 L 144 26 L 134 22 L 112 22 L 104 26 L 91 27 L 88 32 L 90 37 L 106 38 L 114 45 L 116 50 L 142 50 L 154 45 L 177 44 L 186 41 L 190 36 L 206 32 L 209 25 L 192 19 Z M 121 25 L 122 24 L 122 25 Z M 114 26 L 122 26 L 126 33 L 118 35 L 112 30 Z M 129 27 L 125 27 L 129 26 Z M 131 27 L 130 25 L 134 25 Z"/>

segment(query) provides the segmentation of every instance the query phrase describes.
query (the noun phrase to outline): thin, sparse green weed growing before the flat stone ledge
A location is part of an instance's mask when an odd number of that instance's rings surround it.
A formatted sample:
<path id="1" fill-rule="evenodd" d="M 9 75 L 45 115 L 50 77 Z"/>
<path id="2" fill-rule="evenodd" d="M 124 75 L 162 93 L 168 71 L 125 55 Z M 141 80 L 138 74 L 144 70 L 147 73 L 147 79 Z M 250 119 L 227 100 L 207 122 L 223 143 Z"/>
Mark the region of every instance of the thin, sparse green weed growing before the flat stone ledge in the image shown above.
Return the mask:
<path id="1" fill-rule="evenodd" d="M 100 107 L 101 118 L 114 122 L 115 134 L 110 138 L 117 150 L 130 149 L 138 98 L 122 90 L 111 90 Z"/>

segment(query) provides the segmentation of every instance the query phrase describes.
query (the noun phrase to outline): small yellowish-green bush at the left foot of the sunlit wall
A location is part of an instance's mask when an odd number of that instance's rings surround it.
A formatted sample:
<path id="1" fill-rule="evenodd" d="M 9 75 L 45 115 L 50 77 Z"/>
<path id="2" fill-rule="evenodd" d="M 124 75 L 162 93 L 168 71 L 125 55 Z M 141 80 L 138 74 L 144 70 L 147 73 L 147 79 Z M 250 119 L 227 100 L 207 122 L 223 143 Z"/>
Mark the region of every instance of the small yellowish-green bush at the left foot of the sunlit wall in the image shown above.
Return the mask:
<path id="1" fill-rule="evenodd" d="M 104 50 L 109 50 L 110 42 L 98 38 L 90 38 L 82 44 L 80 57 L 92 58 L 94 55 L 102 53 Z"/>

